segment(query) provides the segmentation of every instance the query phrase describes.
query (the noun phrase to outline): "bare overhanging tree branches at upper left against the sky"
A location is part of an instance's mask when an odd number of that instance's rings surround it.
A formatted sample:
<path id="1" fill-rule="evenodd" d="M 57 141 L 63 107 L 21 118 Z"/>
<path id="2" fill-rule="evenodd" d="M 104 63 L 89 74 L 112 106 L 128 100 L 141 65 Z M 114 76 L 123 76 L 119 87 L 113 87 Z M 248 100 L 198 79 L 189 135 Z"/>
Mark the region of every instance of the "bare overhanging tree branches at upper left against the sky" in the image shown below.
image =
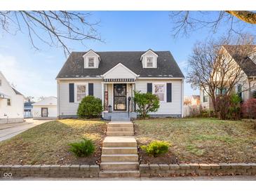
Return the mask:
<path id="1" fill-rule="evenodd" d="M 40 41 L 60 46 L 67 54 L 69 42 L 102 41 L 95 28 L 99 22 L 90 22 L 89 17 L 90 13 L 76 11 L 0 11 L 0 26 L 10 34 L 28 34 L 36 49 Z"/>

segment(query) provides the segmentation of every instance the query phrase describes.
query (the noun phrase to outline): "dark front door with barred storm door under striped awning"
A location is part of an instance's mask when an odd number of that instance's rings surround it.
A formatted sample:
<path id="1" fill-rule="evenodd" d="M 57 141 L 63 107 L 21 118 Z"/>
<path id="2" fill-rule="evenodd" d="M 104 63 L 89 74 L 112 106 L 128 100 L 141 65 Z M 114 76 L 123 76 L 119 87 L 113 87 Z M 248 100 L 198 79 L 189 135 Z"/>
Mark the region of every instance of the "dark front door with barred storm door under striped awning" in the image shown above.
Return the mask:
<path id="1" fill-rule="evenodd" d="M 114 111 L 126 111 L 126 84 L 114 84 Z"/>

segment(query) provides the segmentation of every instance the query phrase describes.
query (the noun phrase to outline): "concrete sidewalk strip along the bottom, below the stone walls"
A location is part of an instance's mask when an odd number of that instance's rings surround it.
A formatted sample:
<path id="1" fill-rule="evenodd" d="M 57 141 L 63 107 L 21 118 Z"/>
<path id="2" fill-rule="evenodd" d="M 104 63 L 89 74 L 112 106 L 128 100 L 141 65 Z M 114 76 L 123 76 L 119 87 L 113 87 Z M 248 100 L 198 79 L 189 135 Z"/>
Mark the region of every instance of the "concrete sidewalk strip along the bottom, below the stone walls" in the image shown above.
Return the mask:
<path id="1" fill-rule="evenodd" d="M 0 181 L 256 181 L 256 176 L 201 176 L 201 177 L 116 177 L 116 178 L 0 178 Z"/>

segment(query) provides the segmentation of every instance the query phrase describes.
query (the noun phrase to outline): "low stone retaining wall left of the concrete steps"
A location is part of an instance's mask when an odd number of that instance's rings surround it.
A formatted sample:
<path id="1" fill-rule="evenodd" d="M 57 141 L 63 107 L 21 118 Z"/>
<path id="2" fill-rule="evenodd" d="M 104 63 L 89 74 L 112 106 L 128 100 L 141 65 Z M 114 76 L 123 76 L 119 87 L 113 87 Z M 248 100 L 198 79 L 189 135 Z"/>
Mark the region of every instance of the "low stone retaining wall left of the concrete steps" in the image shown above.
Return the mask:
<path id="1" fill-rule="evenodd" d="M 0 165 L 0 177 L 99 177 L 99 165 Z"/>

